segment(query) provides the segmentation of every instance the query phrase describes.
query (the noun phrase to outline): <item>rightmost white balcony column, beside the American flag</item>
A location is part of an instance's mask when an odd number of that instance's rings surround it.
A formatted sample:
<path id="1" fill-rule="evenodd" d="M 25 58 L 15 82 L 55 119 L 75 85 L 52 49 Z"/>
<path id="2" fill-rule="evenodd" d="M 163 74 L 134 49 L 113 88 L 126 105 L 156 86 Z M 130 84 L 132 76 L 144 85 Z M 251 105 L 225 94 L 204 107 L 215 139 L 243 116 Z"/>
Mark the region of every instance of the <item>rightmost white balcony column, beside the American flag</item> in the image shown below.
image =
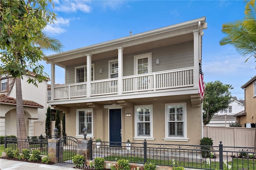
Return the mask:
<path id="1" fill-rule="evenodd" d="M 201 53 L 200 47 L 201 44 L 199 44 L 199 35 L 198 35 L 198 30 L 193 31 L 194 34 L 194 86 L 198 87 L 199 86 L 199 54 Z M 201 38 L 201 36 L 200 36 Z"/>

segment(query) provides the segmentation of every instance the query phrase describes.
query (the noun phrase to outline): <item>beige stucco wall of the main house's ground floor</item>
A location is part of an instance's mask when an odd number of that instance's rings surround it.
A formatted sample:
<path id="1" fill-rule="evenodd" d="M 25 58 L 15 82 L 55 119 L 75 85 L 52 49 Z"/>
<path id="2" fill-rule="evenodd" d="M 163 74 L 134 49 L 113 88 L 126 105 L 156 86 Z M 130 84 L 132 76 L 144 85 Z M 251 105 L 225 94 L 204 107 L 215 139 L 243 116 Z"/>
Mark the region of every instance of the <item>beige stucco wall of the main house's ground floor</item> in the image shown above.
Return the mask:
<path id="1" fill-rule="evenodd" d="M 186 102 L 187 106 L 187 138 L 188 142 L 183 141 L 164 141 L 165 137 L 165 104 Z M 122 142 L 129 139 L 131 142 L 142 143 L 143 140 L 133 140 L 134 137 L 134 106 L 146 105 L 149 103 L 134 103 L 132 107 L 122 108 Z M 188 144 L 198 145 L 201 139 L 201 109 L 200 107 L 191 107 L 190 100 L 178 101 L 160 101 L 152 102 L 153 105 L 153 137 L 154 141 L 150 143 L 168 143 L 168 144 Z M 127 117 L 126 114 L 131 116 Z M 108 109 L 94 109 L 94 140 L 101 138 L 103 141 L 109 140 L 109 118 Z M 76 108 L 71 108 L 70 113 L 66 113 L 66 133 L 70 136 L 76 136 Z"/>

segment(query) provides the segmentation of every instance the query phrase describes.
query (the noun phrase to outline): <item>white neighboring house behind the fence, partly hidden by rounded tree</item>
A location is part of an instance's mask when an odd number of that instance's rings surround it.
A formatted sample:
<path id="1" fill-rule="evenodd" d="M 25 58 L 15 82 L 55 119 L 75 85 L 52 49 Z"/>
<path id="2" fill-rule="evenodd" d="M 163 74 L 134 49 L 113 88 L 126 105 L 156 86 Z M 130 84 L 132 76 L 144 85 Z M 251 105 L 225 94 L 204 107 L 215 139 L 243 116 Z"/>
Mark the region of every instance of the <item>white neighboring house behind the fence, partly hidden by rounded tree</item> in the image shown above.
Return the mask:
<path id="1" fill-rule="evenodd" d="M 230 123 L 236 122 L 236 117 L 234 117 L 234 115 L 244 110 L 244 100 L 238 100 L 236 97 L 232 97 L 231 100 L 232 102 L 229 104 L 228 108 L 213 115 L 210 123 L 207 126 L 228 127 Z"/>

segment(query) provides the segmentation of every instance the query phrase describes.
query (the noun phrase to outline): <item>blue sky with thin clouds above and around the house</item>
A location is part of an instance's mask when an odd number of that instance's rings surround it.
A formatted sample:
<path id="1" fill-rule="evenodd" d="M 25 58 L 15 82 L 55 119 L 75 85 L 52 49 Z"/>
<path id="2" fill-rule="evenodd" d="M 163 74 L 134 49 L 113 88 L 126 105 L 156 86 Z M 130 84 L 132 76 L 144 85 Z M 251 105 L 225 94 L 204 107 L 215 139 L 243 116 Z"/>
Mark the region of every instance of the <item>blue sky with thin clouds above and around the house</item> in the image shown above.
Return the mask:
<path id="1" fill-rule="evenodd" d="M 57 14 L 54 25 L 45 31 L 59 39 L 63 51 L 78 49 L 132 34 L 142 33 L 206 17 L 208 28 L 202 39 L 204 81 L 220 80 L 234 87 L 232 96 L 244 99 L 241 86 L 256 75 L 255 59 L 245 57 L 230 45 L 220 46 L 222 24 L 244 17 L 243 0 L 179 1 L 87 1 L 53 0 Z M 46 51 L 46 55 L 54 52 Z M 43 62 L 45 63 L 45 62 Z M 44 64 L 50 75 L 50 64 Z M 64 70 L 56 69 L 56 83 L 64 83 Z"/>

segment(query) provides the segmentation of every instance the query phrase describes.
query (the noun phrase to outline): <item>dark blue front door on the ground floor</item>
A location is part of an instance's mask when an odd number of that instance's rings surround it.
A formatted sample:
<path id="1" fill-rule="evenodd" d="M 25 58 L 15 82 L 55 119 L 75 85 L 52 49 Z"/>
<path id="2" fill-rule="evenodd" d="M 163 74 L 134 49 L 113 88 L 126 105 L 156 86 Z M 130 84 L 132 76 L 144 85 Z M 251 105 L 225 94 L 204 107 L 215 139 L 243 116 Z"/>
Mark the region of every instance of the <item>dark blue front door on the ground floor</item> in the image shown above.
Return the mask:
<path id="1" fill-rule="evenodd" d="M 109 110 L 109 134 L 110 145 L 121 146 L 122 128 L 121 128 L 121 109 Z"/>

